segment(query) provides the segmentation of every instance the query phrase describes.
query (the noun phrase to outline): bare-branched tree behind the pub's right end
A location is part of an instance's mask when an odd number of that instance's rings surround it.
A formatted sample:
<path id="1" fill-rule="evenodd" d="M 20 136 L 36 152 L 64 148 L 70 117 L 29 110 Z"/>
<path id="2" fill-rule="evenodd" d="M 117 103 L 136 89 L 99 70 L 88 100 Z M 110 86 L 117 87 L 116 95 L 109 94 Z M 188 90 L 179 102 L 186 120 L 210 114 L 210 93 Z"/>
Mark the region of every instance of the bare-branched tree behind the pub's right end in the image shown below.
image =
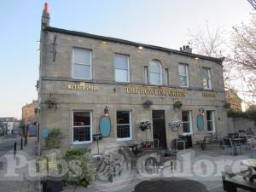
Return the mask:
<path id="1" fill-rule="evenodd" d="M 205 30 L 190 33 L 195 52 L 212 57 L 224 56 L 225 89 L 236 90 L 243 102 L 256 96 L 256 18 L 234 26 L 232 32 L 218 27 L 213 32 L 208 23 Z"/>

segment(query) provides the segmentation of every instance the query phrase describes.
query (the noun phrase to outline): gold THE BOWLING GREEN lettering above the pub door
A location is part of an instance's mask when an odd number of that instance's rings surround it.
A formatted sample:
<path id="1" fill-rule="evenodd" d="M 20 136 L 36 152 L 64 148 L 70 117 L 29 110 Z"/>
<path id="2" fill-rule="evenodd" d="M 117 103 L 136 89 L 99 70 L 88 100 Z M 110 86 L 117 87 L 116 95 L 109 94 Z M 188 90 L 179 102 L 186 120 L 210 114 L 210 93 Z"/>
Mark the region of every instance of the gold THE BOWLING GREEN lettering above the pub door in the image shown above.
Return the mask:
<path id="1" fill-rule="evenodd" d="M 172 89 L 172 88 L 151 88 L 143 86 L 129 85 L 125 87 L 127 94 L 137 95 L 152 95 L 152 96 L 185 96 L 185 90 Z"/>

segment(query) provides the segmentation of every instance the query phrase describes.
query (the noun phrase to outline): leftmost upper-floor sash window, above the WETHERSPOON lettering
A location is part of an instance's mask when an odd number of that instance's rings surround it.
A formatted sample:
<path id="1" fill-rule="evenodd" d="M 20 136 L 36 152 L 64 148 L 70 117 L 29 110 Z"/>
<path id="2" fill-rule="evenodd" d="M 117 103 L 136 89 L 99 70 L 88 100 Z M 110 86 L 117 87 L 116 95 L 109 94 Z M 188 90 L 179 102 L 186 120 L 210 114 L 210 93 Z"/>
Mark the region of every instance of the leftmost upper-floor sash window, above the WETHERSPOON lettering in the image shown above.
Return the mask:
<path id="1" fill-rule="evenodd" d="M 73 78 L 91 79 L 91 51 L 73 48 Z"/>

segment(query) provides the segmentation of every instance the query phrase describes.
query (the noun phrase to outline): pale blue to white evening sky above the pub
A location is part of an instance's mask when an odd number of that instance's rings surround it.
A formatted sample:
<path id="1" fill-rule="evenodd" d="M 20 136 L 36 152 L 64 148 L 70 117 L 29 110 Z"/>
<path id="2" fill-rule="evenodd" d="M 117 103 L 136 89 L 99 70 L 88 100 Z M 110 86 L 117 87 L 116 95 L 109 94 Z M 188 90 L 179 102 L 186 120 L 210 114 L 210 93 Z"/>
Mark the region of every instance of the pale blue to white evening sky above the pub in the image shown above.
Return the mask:
<path id="1" fill-rule="evenodd" d="M 179 49 L 189 31 L 208 25 L 227 31 L 247 22 L 247 0 L 48 0 L 50 26 Z M 41 15 L 45 0 L 0 5 L 0 117 L 21 117 L 37 99 Z"/>

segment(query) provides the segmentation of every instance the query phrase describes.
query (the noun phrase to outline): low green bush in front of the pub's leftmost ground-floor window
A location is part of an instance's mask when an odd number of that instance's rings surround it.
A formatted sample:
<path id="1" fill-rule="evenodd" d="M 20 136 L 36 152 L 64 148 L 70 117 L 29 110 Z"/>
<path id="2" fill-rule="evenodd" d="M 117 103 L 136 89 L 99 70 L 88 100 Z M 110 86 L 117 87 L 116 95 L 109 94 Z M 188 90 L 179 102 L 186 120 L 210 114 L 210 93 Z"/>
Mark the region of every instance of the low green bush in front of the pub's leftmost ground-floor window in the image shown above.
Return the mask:
<path id="1" fill-rule="evenodd" d="M 95 168 L 88 152 L 83 149 L 68 150 L 64 160 L 68 162 L 67 183 L 87 187 L 95 179 Z"/>

